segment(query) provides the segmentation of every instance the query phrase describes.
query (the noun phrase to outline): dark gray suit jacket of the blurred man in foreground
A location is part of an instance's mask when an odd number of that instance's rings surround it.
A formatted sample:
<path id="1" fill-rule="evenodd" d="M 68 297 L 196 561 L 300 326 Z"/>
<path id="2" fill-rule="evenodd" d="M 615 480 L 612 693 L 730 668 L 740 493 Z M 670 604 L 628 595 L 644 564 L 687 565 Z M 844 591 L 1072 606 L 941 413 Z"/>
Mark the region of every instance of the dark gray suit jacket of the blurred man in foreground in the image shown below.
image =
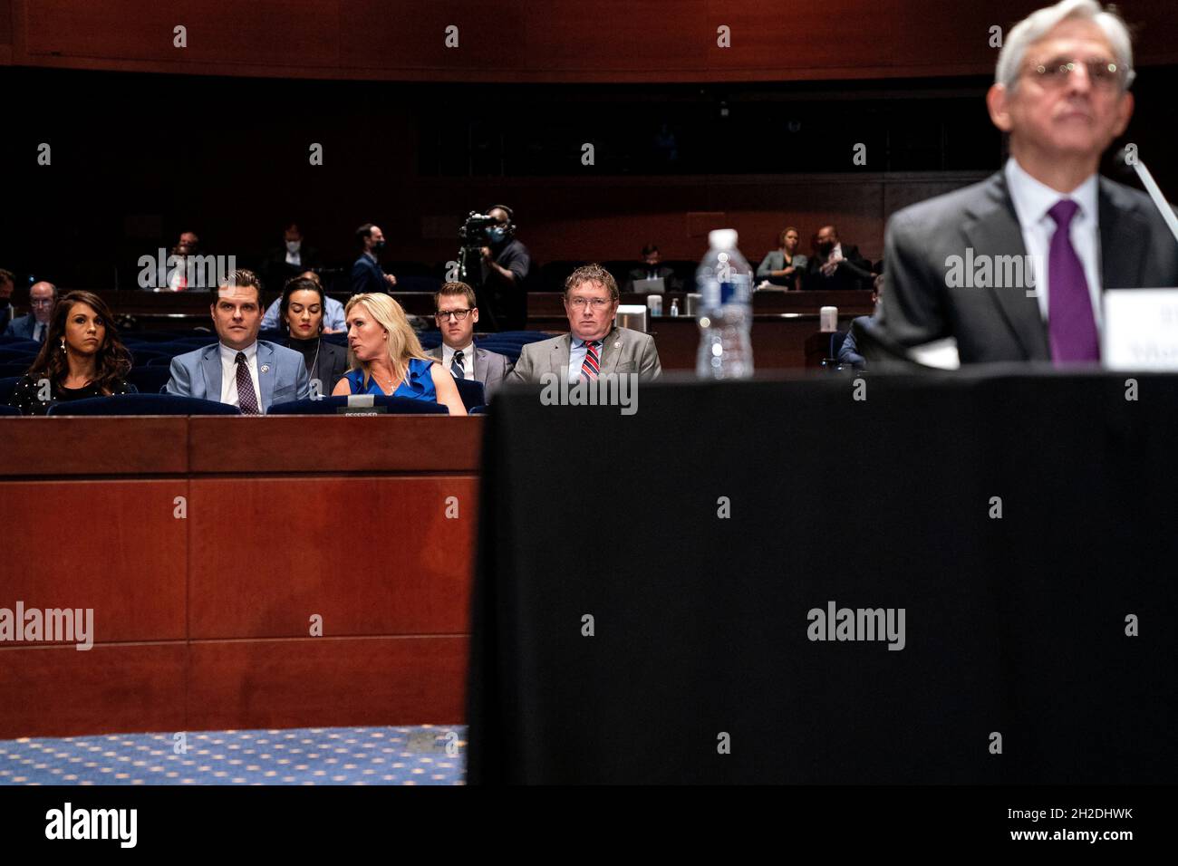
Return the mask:
<path id="1" fill-rule="evenodd" d="M 1178 285 L 1178 243 L 1150 198 L 1100 178 L 1097 200 L 1101 286 Z M 946 259 L 965 259 L 967 249 L 974 260 L 1026 254 L 1001 171 L 888 220 L 885 291 L 863 342 L 868 359 L 901 357 L 911 346 L 946 337 L 957 338 L 962 364 L 1051 358 L 1039 302 L 1025 286 L 946 285 Z"/>

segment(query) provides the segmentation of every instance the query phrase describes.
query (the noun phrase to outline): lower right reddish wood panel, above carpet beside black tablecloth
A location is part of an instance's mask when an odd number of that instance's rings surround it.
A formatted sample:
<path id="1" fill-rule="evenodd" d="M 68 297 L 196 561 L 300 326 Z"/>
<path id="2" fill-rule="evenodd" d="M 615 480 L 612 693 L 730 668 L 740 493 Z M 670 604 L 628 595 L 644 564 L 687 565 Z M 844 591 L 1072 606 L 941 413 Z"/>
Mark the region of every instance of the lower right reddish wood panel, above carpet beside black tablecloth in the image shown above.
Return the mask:
<path id="1" fill-rule="evenodd" d="M 466 650 L 465 636 L 193 643 L 188 728 L 457 723 Z"/>

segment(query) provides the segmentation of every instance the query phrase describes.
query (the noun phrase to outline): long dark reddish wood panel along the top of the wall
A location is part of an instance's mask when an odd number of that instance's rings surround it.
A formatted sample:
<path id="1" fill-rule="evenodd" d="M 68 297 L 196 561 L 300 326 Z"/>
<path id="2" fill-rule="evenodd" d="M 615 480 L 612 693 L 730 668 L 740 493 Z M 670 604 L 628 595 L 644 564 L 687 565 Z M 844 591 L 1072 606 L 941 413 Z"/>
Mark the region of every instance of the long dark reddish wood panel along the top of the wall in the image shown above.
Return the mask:
<path id="1" fill-rule="evenodd" d="M 993 0 L 14 0 L 15 62 L 398 80 L 732 81 L 978 74 L 1043 2 Z M 1124 0 L 1138 64 L 1178 60 L 1166 4 Z M 0 12 L 4 8 L 0 7 Z M 172 28 L 188 27 L 174 48 Z M 444 28 L 459 28 L 445 48 Z M 732 47 L 716 44 L 716 28 Z"/>

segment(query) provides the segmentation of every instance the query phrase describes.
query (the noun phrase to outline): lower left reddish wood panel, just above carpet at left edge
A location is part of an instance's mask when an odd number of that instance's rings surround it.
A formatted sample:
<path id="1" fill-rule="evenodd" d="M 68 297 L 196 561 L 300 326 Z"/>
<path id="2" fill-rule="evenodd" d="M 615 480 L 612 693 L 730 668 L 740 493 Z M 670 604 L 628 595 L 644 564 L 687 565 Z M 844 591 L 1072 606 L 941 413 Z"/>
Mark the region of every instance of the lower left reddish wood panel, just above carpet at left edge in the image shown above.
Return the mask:
<path id="1" fill-rule="evenodd" d="M 0 649 L 0 739 L 184 731 L 184 643 Z"/>

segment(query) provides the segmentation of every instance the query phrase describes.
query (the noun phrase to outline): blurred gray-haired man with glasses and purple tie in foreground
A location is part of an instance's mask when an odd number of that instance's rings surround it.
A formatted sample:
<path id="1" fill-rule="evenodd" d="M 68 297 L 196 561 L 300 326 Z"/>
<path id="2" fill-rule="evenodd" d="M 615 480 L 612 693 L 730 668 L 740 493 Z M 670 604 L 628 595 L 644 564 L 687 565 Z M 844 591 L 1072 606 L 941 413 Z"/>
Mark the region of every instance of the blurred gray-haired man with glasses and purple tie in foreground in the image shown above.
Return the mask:
<path id="1" fill-rule="evenodd" d="M 865 355 L 962 364 L 1100 358 L 1103 289 L 1178 285 L 1178 244 L 1151 200 L 1097 174 L 1133 112 L 1125 24 L 1063 0 L 1008 34 L 986 94 L 1010 135 L 990 179 L 895 213 L 887 292 Z M 1030 271 L 1030 273 L 1028 273 Z"/>

